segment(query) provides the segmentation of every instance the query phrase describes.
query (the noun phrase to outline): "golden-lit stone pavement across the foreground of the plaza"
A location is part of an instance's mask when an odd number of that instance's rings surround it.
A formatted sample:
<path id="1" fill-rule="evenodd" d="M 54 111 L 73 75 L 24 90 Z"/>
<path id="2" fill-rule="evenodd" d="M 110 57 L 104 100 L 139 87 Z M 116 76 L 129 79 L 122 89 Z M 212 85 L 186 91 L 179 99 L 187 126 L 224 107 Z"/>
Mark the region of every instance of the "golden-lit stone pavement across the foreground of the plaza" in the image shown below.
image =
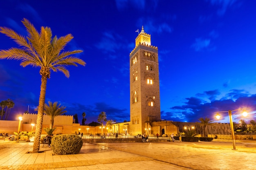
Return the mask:
<path id="1" fill-rule="evenodd" d="M 254 170 L 256 141 L 84 143 L 79 154 L 28 153 L 33 142 L 0 139 L 4 170 Z M 249 143 L 250 142 L 250 143 Z"/>

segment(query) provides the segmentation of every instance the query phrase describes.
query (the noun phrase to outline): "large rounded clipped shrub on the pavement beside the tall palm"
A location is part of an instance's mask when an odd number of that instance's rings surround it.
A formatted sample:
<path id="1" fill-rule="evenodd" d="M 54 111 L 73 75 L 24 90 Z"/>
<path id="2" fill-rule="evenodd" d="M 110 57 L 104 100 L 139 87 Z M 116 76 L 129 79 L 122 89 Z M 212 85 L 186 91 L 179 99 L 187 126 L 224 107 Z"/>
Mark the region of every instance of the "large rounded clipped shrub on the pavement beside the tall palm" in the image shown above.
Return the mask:
<path id="1" fill-rule="evenodd" d="M 77 154 L 80 152 L 83 141 L 78 135 L 57 135 L 52 138 L 52 151 L 56 155 Z"/>

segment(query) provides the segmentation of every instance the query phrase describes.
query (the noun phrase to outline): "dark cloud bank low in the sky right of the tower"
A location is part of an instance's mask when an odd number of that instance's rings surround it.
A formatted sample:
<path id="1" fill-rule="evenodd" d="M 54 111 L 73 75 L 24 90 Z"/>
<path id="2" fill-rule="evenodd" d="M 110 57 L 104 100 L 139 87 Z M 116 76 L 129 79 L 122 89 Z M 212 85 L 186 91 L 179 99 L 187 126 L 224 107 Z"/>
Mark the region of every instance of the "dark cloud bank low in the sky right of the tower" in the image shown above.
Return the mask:
<path id="1" fill-rule="evenodd" d="M 198 97 L 188 97 L 186 102 L 182 106 L 171 107 L 170 112 L 162 111 L 162 118 L 169 119 L 173 121 L 198 121 L 200 117 L 209 117 L 210 119 L 215 119 L 215 113 L 219 111 L 236 110 L 238 108 L 249 108 L 251 117 L 247 118 L 247 121 L 254 119 L 256 110 L 256 95 L 249 95 L 244 90 L 233 89 L 223 97 L 218 100 L 211 100 L 210 102 L 205 102 L 204 97 L 207 96 L 211 99 L 216 98 L 220 93 L 218 90 L 207 91 L 201 94 L 197 94 Z M 236 113 L 236 112 L 235 112 Z M 228 114 L 223 115 L 222 123 L 227 123 Z M 234 122 L 238 119 L 243 119 L 239 115 L 233 117 Z"/>

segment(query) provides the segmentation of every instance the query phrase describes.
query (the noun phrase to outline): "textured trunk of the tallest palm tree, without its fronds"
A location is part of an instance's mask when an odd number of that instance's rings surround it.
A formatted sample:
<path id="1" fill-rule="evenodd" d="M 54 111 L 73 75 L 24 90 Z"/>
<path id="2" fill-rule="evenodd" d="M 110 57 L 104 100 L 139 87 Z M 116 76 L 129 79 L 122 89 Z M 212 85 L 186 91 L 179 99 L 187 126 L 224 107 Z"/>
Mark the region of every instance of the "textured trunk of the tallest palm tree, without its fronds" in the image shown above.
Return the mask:
<path id="1" fill-rule="evenodd" d="M 42 125 L 43 125 L 43 110 L 44 110 L 44 106 L 45 106 L 46 84 L 47 84 L 47 76 L 42 75 L 38 112 L 37 112 L 37 119 L 36 119 L 36 133 L 35 133 L 35 139 L 34 139 L 34 145 L 33 145 L 33 153 L 38 152 L 40 149 L 40 137 L 41 137 Z"/>

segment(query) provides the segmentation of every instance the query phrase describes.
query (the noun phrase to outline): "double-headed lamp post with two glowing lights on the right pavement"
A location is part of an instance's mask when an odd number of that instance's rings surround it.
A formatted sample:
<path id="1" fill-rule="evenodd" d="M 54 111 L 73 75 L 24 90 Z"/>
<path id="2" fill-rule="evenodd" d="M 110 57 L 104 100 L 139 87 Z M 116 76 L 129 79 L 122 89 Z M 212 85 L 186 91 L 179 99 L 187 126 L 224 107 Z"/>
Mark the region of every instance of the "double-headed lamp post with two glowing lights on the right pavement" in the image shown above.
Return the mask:
<path id="1" fill-rule="evenodd" d="M 232 143 L 233 143 L 233 149 L 232 150 L 236 150 L 236 139 L 235 139 L 233 119 L 232 119 L 232 112 L 237 111 L 236 113 L 238 113 L 239 110 L 244 110 L 242 114 L 243 114 L 243 116 L 247 116 L 248 113 L 245 111 L 245 109 L 247 109 L 247 108 L 239 108 L 239 109 L 236 109 L 236 110 L 216 112 L 216 118 L 217 119 L 220 119 L 220 114 L 219 113 L 229 113 L 229 123 L 230 123 Z M 236 114 L 236 113 L 234 113 L 234 114 Z"/>

